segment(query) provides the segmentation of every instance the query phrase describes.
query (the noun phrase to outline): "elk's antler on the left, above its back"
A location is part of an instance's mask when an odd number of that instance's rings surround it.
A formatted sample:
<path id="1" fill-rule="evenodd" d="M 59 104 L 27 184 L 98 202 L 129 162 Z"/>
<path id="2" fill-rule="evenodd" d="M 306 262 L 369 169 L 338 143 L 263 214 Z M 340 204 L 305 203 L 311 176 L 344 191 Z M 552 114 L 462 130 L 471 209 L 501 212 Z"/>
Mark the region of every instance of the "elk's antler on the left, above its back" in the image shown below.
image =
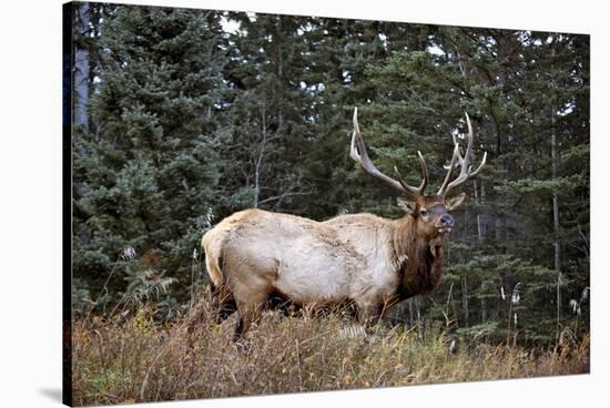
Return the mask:
<path id="1" fill-rule="evenodd" d="M 366 145 L 364 143 L 363 136 L 360 135 L 360 128 L 358 126 L 358 109 L 354 109 L 354 134 L 352 135 L 352 147 L 349 149 L 349 156 L 352 157 L 352 160 L 358 163 L 366 173 L 403 193 L 409 193 L 415 195 L 416 197 L 419 197 L 424 195 L 424 191 L 426 190 L 426 185 L 428 184 L 428 169 L 426 167 L 426 162 L 424 161 L 424 156 L 421 155 L 421 153 L 417 152 L 417 155 L 419 156 L 419 161 L 421 162 L 421 175 L 424 178 L 418 187 L 408 185 L 403 180 L 403 176 L 400 175 L 396 166 L 394 166 L 394 172 L 398 176 L 398 181 L 388 177 L 387 175 L 382 173 L 375 166 L 375 164 L 373 164 L 370 157 L 368 156 Z"/>

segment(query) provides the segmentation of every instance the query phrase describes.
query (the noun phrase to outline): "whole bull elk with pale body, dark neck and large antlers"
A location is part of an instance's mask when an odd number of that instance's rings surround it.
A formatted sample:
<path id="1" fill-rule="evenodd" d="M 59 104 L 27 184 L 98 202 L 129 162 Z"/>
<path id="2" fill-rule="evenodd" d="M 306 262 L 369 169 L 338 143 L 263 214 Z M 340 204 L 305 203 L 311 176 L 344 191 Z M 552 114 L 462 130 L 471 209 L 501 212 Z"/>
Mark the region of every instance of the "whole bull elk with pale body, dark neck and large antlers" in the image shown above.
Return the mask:
<path id="1" fill-rule="evenodd" d="M 354 110 L 349 156 L 378 181 L 403 196 L 399 220 L 373 214 L 348 214 L 316 222 L 288 214 L 251 208 L 237 212 L 204 234 L 202 248 L 218 307 L 234 304 L 240 338 L 255 322 L 270 296 L 279 294 L 296 305 L 356 305 L 360 322 L 377 322 L 390 306 L 419 294 L 431 293 L 443 277 L 445 236 L 454 227 L 451 210 L 466 194 L 448 198 L 450 191 L 479 174 L 485 153 L 474 170 L 472 126 L 468 114 L 467 147 L 454 136 L 454 154 L 436 194 L 425 194 L 426 162 L 421 183 L 411 186 L 397 167 L 396 177 L 383 174 L 370 161 Z M 456 167 L 459 175 L 451 180 Z"/>

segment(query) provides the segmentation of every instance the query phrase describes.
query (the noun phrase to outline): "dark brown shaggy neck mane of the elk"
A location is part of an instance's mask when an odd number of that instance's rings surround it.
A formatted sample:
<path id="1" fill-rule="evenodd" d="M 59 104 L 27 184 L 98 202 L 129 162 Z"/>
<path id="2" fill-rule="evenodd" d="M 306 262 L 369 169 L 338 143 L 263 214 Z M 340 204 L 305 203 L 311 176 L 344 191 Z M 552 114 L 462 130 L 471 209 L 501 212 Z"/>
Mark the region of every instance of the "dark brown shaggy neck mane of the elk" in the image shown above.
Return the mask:
<path id="1" fill-rule="evenodd" d="M 395 221 L 392 241 L 400 277 L 398 298 L 431 293 L 443 278 L 444 236 L 418 234 L 417 220 L 408 214 Z"/>

